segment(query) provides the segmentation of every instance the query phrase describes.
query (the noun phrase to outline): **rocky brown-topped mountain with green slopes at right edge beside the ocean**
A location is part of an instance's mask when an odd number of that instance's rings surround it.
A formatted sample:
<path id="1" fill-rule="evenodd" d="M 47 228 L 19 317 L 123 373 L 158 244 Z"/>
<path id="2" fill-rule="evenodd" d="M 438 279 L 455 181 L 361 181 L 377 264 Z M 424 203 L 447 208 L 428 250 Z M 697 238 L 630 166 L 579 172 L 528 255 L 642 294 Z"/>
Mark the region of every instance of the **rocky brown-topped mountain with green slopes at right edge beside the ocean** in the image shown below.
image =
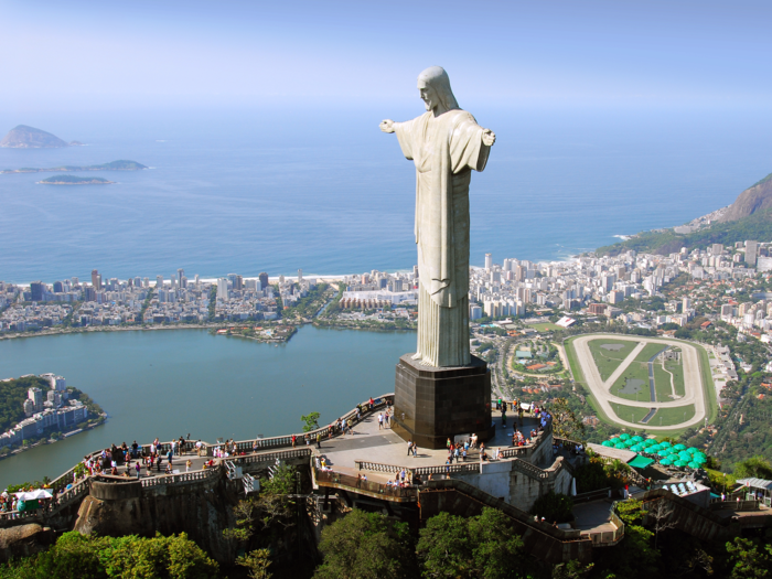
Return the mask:
<path id="1" fill-rule="evenodd" d="M 735 203 L 699 217 L 690 226 L 641 232 L 619 244 L 599 247 L 598 255 L 619 255 L 629 249 L 668 255 L 711 244 L 728 245 L 747 239 L 772 242 L 772 173 L 740 193 Z"/>

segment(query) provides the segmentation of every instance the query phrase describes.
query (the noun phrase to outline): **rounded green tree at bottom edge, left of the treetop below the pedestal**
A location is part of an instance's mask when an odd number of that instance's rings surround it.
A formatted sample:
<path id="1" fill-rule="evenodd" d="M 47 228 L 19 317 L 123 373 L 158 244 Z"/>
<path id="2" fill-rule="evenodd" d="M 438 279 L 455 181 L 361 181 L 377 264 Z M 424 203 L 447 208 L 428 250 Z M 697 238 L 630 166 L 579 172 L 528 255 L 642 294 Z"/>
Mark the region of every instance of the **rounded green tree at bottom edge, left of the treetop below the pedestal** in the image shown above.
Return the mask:
<path id="1" fill-rule="evenodd" d="M 314 579 L 416 577 L 414 545 L 406 523 L 354 510 L 322 530 L 324 561 Z"/>

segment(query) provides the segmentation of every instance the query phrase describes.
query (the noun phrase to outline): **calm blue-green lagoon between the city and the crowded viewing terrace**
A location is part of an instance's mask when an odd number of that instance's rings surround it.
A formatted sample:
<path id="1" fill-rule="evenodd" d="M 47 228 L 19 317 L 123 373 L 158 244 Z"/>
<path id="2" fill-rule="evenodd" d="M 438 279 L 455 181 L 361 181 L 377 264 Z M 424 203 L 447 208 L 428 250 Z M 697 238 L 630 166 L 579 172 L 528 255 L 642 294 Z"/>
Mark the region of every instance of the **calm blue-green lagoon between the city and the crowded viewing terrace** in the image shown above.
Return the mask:
<path id="1" fill-rule="evenodd" d="M 0 378 L 53 372 L 108 414 L 93 430 L 0 461 L 0 490 L 53 479 L 112 442 L 269 437 L 300 431 L 300 416 L 311 411 L 331 422 L 369 396 L 394 392 L 395 365 L 415 341 L 409 331 L 311 325 L 279 345 L 206 330 L 0 341 Z"/>

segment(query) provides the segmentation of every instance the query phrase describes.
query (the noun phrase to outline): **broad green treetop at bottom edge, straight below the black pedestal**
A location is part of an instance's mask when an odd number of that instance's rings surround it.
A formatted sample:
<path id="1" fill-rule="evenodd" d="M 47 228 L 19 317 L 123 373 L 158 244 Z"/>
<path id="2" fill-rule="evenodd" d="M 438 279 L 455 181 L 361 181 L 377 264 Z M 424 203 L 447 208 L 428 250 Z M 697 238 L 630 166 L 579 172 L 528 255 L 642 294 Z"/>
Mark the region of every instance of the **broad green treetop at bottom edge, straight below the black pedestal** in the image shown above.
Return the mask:
<path id="1" fill-rule="evenodd" d="M 495 508 L 483 508 L 470 518 L 440 513 L 420 530 L 417 554 L 421 575 L 427 578 L 516 577 L 522 564 L 523 539 L 506 516 Z"/>

